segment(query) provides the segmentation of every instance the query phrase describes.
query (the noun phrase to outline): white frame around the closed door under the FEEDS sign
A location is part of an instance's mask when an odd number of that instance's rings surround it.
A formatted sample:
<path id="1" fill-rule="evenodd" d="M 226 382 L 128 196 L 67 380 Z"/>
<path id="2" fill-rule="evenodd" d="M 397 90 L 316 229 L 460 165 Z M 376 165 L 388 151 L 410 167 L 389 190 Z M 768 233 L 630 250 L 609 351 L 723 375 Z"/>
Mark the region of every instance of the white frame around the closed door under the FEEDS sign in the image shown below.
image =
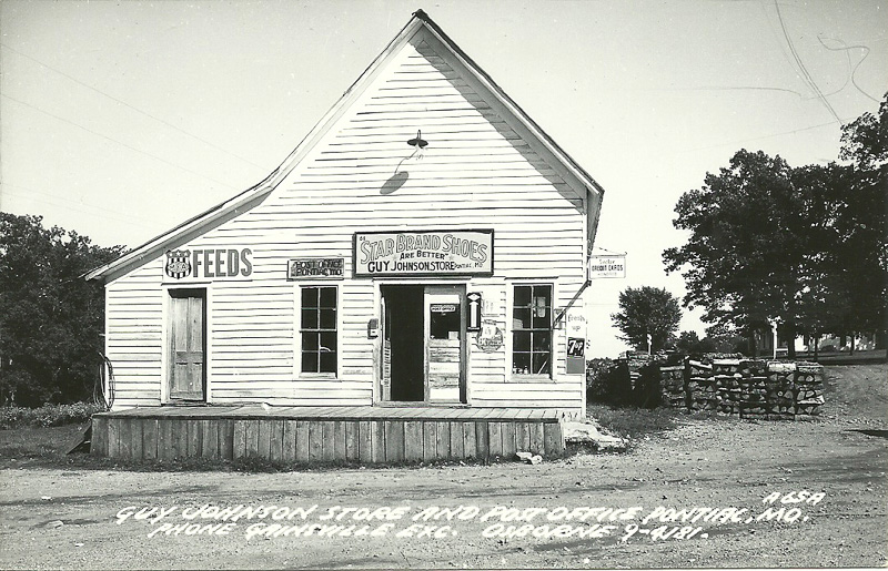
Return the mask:
<path id="1" fill-rule="evenodd" d="M 161 405 L 199 405 L 212 404 L 212 354 L 210 351 L 210 332 L 212 330 L 212 287 L 209 283 L 190 283 L 190 284 L 164 284 L 163 290 L 163 310 L 162 310 L 162 325 L 161 325 L 161 375 L 160 375 L 160 400 Z M 171 334 L 171 305 L 172 292 L 179 290 L 194 290 L 202 292 L 203 294 L 203 400 L 182 400 L 172 398 L 170 396 L 170 351 L 172 348 Z"/>

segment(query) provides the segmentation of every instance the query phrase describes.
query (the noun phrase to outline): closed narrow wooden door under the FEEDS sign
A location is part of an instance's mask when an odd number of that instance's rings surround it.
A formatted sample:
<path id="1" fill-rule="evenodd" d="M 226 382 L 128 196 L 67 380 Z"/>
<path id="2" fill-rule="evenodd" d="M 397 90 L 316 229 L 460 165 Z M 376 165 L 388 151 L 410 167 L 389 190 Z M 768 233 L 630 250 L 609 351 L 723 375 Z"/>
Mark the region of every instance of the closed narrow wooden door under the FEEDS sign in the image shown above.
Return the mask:
<path id="1" fill-rule="evenodd" d="M 206 290 L 171 289 L 168 383 L 171 400 L 206 400 Z"/>

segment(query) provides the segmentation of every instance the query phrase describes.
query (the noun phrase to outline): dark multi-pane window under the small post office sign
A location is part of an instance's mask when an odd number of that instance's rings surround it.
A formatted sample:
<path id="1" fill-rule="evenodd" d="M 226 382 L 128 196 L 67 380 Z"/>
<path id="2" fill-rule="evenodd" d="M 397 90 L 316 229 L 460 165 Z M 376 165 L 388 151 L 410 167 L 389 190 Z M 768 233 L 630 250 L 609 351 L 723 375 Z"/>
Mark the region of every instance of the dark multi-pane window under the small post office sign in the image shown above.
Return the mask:
<path id="1" fill-rule="evenodd" d="M 336 374 L 336 287 L 302 287 L 302 373 Z"/>

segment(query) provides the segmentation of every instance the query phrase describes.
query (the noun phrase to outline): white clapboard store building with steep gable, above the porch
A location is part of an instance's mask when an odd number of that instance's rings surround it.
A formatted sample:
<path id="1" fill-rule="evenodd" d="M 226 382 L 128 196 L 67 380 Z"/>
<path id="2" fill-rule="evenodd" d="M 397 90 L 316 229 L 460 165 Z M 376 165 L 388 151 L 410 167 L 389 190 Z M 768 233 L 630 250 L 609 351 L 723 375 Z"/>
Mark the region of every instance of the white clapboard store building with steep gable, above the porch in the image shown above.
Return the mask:
<path id="1" fill-rule="evenodd" d="M 582 416 L 602 196 L 416 12 L 264 181 L 88 276 L 112 412 Z"/>

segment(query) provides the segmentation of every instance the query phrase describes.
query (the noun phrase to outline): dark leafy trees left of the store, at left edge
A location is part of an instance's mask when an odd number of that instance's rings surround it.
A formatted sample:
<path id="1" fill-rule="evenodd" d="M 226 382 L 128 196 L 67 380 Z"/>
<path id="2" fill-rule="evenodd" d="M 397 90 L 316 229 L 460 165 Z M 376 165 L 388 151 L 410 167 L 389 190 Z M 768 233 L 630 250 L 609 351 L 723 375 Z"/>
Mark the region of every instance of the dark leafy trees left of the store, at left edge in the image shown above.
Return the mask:
<path id="1" fill-rule="evenodd" d="M 91 396 L 102 350 L 102 287 L 82 275 L 119 256 L 40 216 L 0 213 L 0 401 Z"/>

